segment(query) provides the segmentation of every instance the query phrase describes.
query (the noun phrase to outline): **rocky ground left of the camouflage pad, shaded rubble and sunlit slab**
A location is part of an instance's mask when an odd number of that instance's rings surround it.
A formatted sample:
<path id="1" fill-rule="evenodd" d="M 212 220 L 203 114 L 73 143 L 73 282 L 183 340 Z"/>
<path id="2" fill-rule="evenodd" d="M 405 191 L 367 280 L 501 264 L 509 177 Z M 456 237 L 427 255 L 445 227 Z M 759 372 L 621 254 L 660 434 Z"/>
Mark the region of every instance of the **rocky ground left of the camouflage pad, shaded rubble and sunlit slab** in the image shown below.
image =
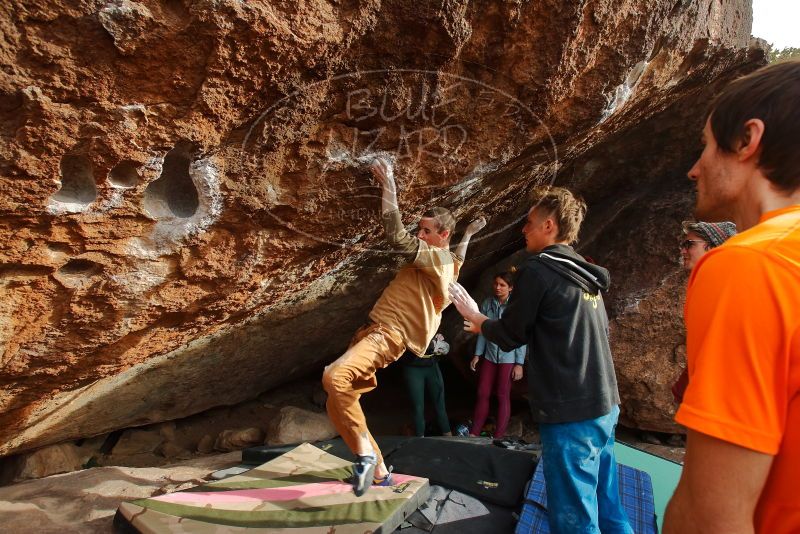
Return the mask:
<path id="1" fill-rule="evenodd" d="M 333 437 L 322 404 L 319 382 L 305 380 L 236 406 L 4 459 L 0 525 L 14 534 L 113 532 L 120 502 L 202 484 L 239 464 L 241 449 Z"/>

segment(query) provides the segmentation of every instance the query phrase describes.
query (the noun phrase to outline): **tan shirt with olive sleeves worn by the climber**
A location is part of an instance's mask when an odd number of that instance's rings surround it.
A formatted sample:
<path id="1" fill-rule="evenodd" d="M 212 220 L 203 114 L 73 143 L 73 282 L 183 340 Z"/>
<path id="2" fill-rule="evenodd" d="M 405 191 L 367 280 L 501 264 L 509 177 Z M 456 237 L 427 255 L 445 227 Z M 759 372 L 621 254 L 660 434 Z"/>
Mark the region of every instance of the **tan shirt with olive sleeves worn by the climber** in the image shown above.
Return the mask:
<path id="1" fill-rule="evenodd" d="M 439 329 L 442 310 L 450 304 L 448 285 L 458 279 L 463 259 L 432 247 L 406 232 L 400 212 L 383 215 L 387 240 L 395 250 L 413 254 L 373 306 L 369 318 L 397 329 L 406 347 L 421 356 Z"/>

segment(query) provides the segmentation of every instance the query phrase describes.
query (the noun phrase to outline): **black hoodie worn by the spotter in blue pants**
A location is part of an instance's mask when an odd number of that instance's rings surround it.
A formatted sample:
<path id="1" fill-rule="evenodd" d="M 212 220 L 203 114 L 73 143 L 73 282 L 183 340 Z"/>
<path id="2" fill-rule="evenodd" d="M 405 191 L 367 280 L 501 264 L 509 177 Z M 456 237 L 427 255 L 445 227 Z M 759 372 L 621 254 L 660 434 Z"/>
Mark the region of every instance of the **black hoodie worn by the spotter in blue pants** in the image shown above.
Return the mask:
<path id="1" fill-rule="evenodd" d="M 503 350 L 528 345 L 528 396 L 535 421 L 595 419 L 619 404 L 602 291 L 606 269 L 567 245 L 532 255 L 518 271 L 503 317 L 481 333 Z"/>

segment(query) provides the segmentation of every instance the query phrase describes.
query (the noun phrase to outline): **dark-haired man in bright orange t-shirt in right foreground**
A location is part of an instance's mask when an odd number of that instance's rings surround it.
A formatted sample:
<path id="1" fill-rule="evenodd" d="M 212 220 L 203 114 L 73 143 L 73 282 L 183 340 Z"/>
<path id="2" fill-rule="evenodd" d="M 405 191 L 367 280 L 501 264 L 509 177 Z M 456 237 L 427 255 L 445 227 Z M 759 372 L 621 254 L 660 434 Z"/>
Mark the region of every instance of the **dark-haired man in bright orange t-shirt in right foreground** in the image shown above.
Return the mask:
<path id="1" fill-rule="evenodd" d="M 703 141 L 695 216 L 741 233 L 689 280 L 686 457 L 664 532 L 800 532 L 800 62 L 729 85 Z"/>

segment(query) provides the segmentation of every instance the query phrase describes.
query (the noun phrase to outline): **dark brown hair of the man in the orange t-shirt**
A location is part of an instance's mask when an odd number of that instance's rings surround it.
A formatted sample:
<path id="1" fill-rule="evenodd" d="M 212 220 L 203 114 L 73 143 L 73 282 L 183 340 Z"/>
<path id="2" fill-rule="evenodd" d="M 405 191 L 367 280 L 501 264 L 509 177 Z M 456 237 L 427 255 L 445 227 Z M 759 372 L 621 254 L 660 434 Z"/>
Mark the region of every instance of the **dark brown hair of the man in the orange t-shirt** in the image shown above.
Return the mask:
<path id="1" fill-rule="evenodd" d="M 734 152 L 750 119 L 764 122 L 758 167 L 784 192 L 800 187 L 800 61 L 758 69 L 728 85 L 712 102 L 709 119 L 717 145 Z"/>

